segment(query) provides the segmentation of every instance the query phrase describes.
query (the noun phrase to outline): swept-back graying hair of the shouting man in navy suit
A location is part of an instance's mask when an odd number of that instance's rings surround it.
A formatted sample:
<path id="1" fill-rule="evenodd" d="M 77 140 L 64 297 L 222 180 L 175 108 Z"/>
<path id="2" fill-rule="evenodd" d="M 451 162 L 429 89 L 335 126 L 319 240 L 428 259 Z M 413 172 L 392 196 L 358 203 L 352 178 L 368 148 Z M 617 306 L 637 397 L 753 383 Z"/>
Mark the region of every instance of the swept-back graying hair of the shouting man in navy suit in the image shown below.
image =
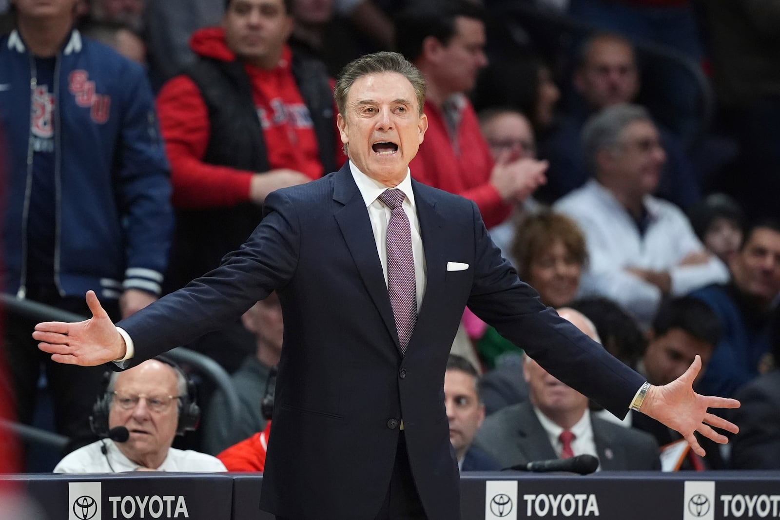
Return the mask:
<path id="1" fill-rule="evenodd" d="M 398 52 L 374 52 L 374 54 L 360 56 L 346 64 L 336 81 L 333 97 L 339 112 L 345 115 L 346 98 L 349 95 L 349 89 L 353 83 L 369 74 L 380 73 L 398 73 L 404 76 L 414 88 L 414 94 L 417 96 L 417 105 L 420 115 L 423 115 L 423 105 L 425 104 L 425 78 L 417 67 L 412 65 Z"/>

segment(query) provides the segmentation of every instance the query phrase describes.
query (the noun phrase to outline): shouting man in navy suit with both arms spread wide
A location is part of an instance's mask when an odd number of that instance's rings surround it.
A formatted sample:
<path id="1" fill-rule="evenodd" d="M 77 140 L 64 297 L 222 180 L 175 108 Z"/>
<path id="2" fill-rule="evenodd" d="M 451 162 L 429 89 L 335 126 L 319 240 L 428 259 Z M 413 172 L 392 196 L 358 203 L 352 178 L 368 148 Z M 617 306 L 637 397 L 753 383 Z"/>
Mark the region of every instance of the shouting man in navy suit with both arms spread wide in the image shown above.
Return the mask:
<path id="1" fill-rule="evenodd" d="M 427 129 L 424 98 L 424 79 L 401 55 L 356 59 L 335 88 L 349 155 L 339 172 L 271 193 L 261 225 L 220 267 L 116 327 L 87 293 L 93 317 L 38 324 L 39 348 L 60 363 L 133 366 L 276 290 L 285 338 L 261 508 L 280 518 L 459 518 L 442 386 L 466 304 L 615 415 L 641 408 L 702 452 L 694 430 L 725 442 L 704 423 L 736 426 L 707 407 L 739 403 L 694 394 L 697 362 L 665 387 L 645 384 L 519 281 L 472 202 L 410 179 Z M 378 200 L 388 188 L 403 193 L 395 214 Z M 417 304 L 404 309 L 417 311 L 409 338 L 409 316 L 396 318 L 388 289 L 398 265 L 385 235 L 395 235 L 388 221 L 399 209 L 413 253 L 406 295 Z"/>

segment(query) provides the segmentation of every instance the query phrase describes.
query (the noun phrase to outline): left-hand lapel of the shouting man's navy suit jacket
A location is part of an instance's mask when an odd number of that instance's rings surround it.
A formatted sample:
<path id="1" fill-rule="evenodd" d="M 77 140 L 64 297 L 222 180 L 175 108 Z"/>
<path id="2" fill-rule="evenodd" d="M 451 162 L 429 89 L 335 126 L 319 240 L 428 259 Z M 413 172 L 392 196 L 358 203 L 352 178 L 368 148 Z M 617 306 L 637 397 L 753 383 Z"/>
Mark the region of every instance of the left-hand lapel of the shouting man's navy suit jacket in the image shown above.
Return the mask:
<path id="1" fill-rule="evenodd" d="M 335 212 L 336 222 L 368 294 L 385 321 L 388 333 L 395 341 L 395 347 L 400 348 L 385 274 L 382 272 L 374 232 L 371 230 L 371 219 L 368 217 L 366 203 L 360 196 L 360 190 L 349 172 L 349 162 L 333 176 L 333 200 L 344 205 Z"/>

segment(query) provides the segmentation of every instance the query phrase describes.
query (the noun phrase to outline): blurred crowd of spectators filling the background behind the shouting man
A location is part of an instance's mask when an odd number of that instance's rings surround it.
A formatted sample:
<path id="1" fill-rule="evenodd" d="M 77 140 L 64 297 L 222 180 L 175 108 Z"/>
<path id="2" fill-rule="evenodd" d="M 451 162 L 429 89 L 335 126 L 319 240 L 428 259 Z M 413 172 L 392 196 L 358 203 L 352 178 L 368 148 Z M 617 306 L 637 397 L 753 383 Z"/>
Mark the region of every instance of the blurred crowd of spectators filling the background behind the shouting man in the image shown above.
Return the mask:
<path id="1" fill-rule="evenodd" d="M 2 290 L 73 313 L 94 290 L 119 318 L 207 274 L 268 193 L 346 161 L 333 79 L 397 50 L 427 81 L 413 179 L 473 200 L 541 301 L 651 384 L 700 356 L 697 390 L 743 401 L 730 452 L 664 469 L 780 469 L 780 9 L 525 3 L 541 26 L 489 0 L 0 2 Z M 232 420 L 188 366 L 51 363 L 33 326 L 5 321 L 3 358 L 18 420 L 41 421 L 43 388 L 70 440 L 55 471 L 262 471 L 276 295 L 186 345 L 232 374 Z M 462 470 L 661 467 L 674 432 L 616 424 L 516 346 L 466 310 L 443 382 Z M 180 442 L 204 453 L 172 447 L 199 421 Z"/>

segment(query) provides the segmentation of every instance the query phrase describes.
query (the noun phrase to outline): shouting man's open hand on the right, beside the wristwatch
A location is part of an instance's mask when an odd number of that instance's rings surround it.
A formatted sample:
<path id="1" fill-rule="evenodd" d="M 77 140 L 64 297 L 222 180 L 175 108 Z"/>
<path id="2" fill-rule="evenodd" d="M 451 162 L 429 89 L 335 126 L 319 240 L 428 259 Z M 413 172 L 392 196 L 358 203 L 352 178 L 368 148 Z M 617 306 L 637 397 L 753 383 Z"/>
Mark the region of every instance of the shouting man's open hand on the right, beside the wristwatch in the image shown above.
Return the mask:
<path id="1" fill-rule="evenodd" d="M 691 449 L 697 455 L 704 456 L 704 449 L 699 445 L 694 432 L 699 432 L 718 444 L 726 444 L 729 439 L 722 433 L 713 430 L 713 427 L 731 433 L 739 432 L 739 427 L 736 424 L 707 412 L 707 409 L 739 408 L 739 401 L 700 395 L 694 392 L 693 380 L 696 379 L 700 370 L 701 359 L 696 356 L 696 359 L 682 376 L 661 387 L 651 386 L 640 407 L 640 412 L 679 431 L 688 441 Z"/>

